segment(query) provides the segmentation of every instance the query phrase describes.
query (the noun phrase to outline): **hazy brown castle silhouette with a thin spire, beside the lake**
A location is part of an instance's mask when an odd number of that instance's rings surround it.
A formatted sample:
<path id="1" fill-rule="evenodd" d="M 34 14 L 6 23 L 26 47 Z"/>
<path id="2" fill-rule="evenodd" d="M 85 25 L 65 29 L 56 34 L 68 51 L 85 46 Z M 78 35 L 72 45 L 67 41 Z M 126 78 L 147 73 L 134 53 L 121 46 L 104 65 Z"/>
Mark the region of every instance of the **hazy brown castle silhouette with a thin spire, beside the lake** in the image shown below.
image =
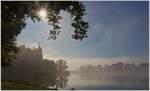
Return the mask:
<path id="1" fill-rule="evenodd" d="M 16 60 L 9 67 L 2 68 L 2 79 L 21 80 L 25 82 L 40 83 L 42 73 L 42 48 L 26 48 L 19 46 Z"/>

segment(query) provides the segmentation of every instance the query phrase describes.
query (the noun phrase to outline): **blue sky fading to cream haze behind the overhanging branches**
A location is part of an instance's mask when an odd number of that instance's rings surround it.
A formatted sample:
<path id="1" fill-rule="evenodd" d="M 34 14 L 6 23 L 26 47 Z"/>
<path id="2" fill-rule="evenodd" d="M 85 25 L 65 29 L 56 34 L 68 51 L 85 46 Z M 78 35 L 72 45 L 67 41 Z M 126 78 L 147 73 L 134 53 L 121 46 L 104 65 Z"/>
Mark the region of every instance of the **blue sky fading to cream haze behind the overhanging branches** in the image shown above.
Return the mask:
<path id="1" fill-rule="evenodd" d="M 27 26 L 17 37 L 18 44 L 43 49 L 45 59 L 67 60 L 70 70 L 84 64 L 112 64 L 115 62 L 148 62 L 148 2 L 146 1 L 85 1 L 89 23 L 88 38 L 71 38 L 69 14 L 61 11 L 61 33 L 56 40 L 47 40 L 51 28 L 47 21 Z"/>

